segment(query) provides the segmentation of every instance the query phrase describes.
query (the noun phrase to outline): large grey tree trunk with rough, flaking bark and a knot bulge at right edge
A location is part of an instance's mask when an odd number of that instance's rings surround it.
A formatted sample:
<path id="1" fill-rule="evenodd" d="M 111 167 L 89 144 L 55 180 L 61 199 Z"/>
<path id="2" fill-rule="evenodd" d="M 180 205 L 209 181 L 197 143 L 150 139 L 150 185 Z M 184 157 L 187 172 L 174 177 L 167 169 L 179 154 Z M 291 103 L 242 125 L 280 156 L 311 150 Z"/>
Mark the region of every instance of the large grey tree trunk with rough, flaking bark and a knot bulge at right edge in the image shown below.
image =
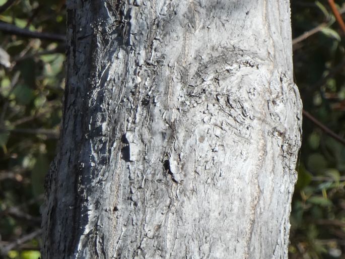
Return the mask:
<path id="1" fill-rule="evenodd" d="M 67 1 L 43 258 L 287 258 L 288 0 Z"/>

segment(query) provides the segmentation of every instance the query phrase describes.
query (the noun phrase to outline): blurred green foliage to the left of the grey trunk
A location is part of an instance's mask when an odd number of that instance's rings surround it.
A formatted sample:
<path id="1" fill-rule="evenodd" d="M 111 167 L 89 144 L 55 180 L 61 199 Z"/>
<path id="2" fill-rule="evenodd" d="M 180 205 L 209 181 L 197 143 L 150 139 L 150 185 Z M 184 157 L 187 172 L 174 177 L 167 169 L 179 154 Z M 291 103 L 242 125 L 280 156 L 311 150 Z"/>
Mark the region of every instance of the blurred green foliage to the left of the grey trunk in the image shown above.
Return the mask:
<path id="1" fill-rule="evenodd" d="M 65 3 L 18 0 L 0 22 L 63 35 Z M 0 39 L 11 57 L 11 67 L 0 66 L 0 258 L 37 259 L 44 176 L 61 119 L 64 43 L 1 31 Z"/>

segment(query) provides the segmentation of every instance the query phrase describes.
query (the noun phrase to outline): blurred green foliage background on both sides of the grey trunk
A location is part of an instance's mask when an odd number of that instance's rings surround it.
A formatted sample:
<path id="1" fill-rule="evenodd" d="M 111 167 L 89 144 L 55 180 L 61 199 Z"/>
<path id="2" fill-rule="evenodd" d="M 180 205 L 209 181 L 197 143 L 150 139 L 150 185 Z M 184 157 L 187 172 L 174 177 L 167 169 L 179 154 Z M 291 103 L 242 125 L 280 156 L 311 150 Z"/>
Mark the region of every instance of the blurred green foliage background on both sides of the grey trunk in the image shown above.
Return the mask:
<path id="1" fill-rule="evenodd" d="M 6 1 L 0 0 L 0 6 Z M 345 13 L 345 0 L 337 1 Z M 295 81 L 304 109 L 345 135 L 344 33 L 327 1 L 292 0 Z M 64 0 L 17 0 L 0 22 L 64 34 Z M 61 119 L 63 43 L 0 32 L 11 67 L 0 66 L 0 248 L 36 259 L 44 176 Z M 345 147 L 304 118 L 291 214 L 290 258 L 345 258 Z M 15 241 L 18 245 L 11 247 Z M 19 242 L 20 241 L 20 242 Z M 1 255 L 0 255 L 1 257 Z"/>

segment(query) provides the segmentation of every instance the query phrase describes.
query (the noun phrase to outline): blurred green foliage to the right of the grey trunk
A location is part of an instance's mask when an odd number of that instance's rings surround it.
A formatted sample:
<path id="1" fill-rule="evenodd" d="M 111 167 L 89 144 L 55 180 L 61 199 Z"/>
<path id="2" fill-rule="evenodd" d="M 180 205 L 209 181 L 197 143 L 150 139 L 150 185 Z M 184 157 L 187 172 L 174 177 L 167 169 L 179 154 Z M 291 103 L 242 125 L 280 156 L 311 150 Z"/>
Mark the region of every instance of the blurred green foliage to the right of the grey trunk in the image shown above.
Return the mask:
<path id="1" fill-rule="evenodd" d="M 345 1 L 335 2 L 345 14 Z M 293 38 L 320 29 L 293 46 L 295 81 L 304 109 L 344 137 L 344 32 L 328 1 L 291 4 Z M 345 146 L 304 117 L 289 258 L 345 258 L 344 171 Z"/>

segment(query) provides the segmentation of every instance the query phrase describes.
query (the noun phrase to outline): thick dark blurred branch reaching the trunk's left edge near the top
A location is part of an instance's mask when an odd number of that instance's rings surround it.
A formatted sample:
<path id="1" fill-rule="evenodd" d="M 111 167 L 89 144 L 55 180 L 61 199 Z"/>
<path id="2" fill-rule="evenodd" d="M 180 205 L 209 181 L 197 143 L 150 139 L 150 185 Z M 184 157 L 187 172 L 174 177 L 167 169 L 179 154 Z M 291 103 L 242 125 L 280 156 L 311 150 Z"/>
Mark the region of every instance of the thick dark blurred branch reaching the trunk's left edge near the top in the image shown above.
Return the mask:
<path id="1" fill-rule="evenodd" d="M 53 41 L 65 41 L 66 39 L 65 36 L 61 34 L 30 31 L 28 29 L 21 29 L 9 23 L 0 23 L 0 31 L 9 33 L 9 34 L 18 35 L 18 36 L 37 38 L 37 39 L 46 39 L 46 40 L 53 40 Z"/>

